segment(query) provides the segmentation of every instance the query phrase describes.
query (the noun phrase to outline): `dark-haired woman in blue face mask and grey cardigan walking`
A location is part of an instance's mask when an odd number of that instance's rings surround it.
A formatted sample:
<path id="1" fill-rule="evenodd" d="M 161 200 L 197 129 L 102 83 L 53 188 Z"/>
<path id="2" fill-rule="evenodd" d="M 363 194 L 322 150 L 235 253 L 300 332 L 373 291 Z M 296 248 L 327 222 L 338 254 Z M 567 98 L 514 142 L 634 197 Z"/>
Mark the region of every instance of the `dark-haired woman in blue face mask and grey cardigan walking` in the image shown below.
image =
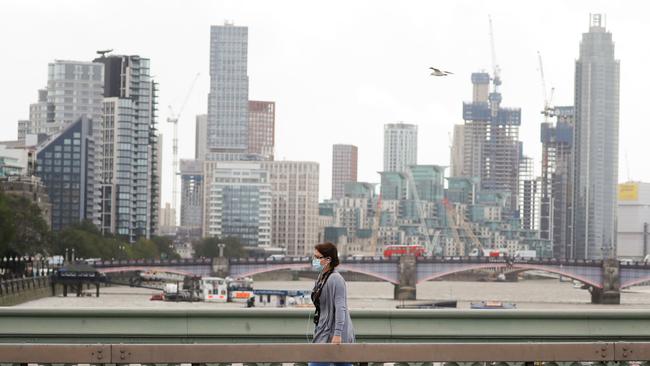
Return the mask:
<path id="1" fill-rule="evenodd" d="M 348 299 L 343 276 L 336 270 L 339 256 L 336 246 L 322 243 L 314 247 L 312 266 L 320 274 L 314 284 L 311 299 L 316 306 L 314 314 L 314 343 L 354 343 L 354 328 L 348 311 Z M 329 362 L 310 362 L 310 366 L 329 365 Z M 336 363 L 336 365 L 352 365 Z"/>

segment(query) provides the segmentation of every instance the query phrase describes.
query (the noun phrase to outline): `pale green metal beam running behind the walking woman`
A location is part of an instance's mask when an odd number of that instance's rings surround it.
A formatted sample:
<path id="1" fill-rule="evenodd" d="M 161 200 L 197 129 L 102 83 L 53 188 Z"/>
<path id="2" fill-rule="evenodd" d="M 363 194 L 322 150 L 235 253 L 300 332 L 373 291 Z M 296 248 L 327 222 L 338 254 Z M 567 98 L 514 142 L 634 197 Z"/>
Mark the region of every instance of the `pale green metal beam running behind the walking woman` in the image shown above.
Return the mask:
<path id="1" fill-rule="evenodd" d="M 302 343 L 308 309 L 0 309 L 0 343 Z M 356 310 L 361 342 L 650 341 L 650 311 Z"/>

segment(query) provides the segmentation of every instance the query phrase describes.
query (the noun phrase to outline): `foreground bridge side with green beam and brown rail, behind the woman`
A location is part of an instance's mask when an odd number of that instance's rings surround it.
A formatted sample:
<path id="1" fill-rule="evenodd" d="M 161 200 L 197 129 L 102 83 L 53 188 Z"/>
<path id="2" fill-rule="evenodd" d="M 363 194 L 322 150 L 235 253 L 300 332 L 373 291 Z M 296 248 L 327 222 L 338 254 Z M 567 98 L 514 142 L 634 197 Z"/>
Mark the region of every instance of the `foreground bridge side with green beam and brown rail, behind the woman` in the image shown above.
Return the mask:
<path id="1" fill-rule="evenodd" d="M 0 308 L 0 362 L 571 366 L 595 361 L 605 366 L 650 360 L 646 310 L 353 309 L 358 343 L 346 345 L 309 344 L 312 311 Z"/>

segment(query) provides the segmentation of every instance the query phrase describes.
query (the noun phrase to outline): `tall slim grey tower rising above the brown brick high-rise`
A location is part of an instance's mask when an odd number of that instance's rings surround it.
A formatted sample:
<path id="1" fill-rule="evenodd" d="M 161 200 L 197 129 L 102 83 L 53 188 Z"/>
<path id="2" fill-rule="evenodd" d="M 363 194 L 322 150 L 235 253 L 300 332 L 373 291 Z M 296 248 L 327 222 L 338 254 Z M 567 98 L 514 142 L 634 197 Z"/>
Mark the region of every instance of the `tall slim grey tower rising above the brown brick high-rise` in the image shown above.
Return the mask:
<path id="1" fill-rule="evenodd" d="M 248 27 L 210 28 L 207 148 L 245 153 L 248 148 Z M 216 160 L 216 159 L 215 159 Z"/>

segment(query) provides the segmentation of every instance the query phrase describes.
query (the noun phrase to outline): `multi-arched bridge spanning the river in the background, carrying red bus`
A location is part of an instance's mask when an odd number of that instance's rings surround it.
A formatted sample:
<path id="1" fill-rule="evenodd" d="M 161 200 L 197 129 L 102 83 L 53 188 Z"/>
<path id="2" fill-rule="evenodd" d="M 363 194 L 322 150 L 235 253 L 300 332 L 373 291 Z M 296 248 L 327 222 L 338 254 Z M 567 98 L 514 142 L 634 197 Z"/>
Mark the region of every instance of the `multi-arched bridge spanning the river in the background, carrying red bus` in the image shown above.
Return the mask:
<path id="1" fill-rule="evenodd" d="M 192 260 L 96 261 L 103 273 L 161 271 L 193 276 L 253 276 L 280 270 L 307 270 L 310 257 L 204 258 Z M 619 304 L 620 290 L 650 281 L 650 265 L 614 259 L 558 260 L 492 257 L 351 257 L 343 258 L 341 271 L 362 273 L 395 285 L 395 299 L 415 299 L 416 286 L 455 273 L 496 270 L 511 278 L 525 271 L 554 273 L 589 288 L 592 303 Z"/>

